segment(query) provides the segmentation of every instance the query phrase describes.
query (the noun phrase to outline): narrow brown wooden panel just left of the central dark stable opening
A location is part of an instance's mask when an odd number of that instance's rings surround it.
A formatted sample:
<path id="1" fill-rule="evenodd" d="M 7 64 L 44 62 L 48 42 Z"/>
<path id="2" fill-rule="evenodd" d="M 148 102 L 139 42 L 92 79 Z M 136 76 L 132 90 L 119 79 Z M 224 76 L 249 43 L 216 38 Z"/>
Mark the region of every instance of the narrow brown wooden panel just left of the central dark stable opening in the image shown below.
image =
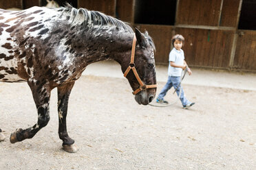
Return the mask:
<path id="1" fill-rule="evenodd" d="M 128 23 L 134 23 L 134 0 L 117 0 L 116 17 Z"/>

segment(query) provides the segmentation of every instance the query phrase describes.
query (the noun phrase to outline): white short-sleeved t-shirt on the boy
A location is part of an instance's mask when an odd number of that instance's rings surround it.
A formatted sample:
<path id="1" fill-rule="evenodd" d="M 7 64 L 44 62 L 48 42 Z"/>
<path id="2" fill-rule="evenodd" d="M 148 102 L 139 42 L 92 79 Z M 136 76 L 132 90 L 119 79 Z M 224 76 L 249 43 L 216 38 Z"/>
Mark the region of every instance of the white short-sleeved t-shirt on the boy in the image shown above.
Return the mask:
<path id="1" fill-rule="evenodd" d="M 180 49 L 178 51 L 177 49 L 173 48 L 171 52 L 169 53 L 169 62 L 175 62 L 175 64 L 183 65 L 184 64 L 184 51 Z M 169 63 L 168 67 L 168 75 L 178 77 L 182 74 L 182 68 L 173 67 Z"/>

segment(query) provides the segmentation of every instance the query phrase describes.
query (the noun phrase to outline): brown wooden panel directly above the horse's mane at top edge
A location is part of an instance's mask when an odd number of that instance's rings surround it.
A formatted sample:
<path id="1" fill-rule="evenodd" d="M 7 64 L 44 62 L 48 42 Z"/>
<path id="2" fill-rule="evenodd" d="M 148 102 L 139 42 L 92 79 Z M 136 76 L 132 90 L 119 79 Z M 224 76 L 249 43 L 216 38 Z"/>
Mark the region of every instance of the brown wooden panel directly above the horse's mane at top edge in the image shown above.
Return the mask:
<path id="1" fill-rule="evenodd" d="M 78 7 L 116 16 L 116 0 L 78 0 Z"/>

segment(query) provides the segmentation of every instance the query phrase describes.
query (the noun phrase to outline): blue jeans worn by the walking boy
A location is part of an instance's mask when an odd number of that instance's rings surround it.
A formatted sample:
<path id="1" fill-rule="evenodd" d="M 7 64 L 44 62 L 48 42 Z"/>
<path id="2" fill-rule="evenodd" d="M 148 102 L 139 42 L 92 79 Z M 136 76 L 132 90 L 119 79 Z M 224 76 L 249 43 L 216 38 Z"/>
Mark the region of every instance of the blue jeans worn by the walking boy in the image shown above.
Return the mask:
<path id="1" fill-rule="evenodd" d="M 165 84 L 164 88 L 162 88 L 160 94 L 158 95 L 158 99 L 164 99 L 164 96 L 167 95 L 167 91 L 170 90 L 170 88 L 173 86 L 174 89 L 177 88 L 177 86 L 180 84 L 180 76 L 179 77 L 173 77 L 168 76 L 167 84 Z M 180 94 L 181 89 L 181 94 Z M 178 87 L 176 90 L 177 95 L 180 95 L 180 101 L 182 102 L 182 106 L 186 106 L 187 104 L 190 104 L 191 102 L 184 97 L 184 91 L 181 86 Z"/>

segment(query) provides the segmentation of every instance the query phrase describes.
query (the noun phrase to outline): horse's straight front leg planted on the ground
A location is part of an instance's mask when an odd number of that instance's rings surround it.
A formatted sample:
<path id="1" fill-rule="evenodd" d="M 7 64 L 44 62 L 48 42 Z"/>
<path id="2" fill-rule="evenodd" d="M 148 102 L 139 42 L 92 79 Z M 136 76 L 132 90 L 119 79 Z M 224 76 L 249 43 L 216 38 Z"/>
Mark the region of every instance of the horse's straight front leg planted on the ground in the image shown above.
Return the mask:
<path id="1" fill-rule="evenodd" d="M 74 153 L 78 151 L 74 140 L 67 134 L 67 105 L 70 98 L 74 82 L 58 86 L 58 136 L 63 141 L 63 149 L 67 152 Z"/>

